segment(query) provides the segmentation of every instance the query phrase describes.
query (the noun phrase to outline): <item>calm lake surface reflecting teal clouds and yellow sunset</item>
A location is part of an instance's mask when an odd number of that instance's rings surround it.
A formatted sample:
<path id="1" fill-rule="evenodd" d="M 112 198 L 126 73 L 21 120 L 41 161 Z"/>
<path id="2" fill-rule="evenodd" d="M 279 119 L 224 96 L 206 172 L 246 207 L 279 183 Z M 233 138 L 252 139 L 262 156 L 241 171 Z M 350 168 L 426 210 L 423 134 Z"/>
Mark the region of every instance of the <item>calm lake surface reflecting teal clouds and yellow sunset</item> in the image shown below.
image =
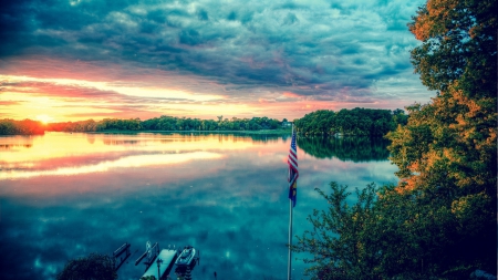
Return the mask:
<path id="1" fill-rule="evenodd" d="M 194 279 L 286 279 L 290 137 L 65 134 L 0 137 L 1 279 L 52 279 L 65 261 L 145 242 L 200 250 Z M 313 189 L 395 182 L 383 141 L 300 138 L 294 235 L 326 207 Z M 295 240 L 295 239 L 294 239 Z M 302 276 L 294 255 L 293 279 Z"/>

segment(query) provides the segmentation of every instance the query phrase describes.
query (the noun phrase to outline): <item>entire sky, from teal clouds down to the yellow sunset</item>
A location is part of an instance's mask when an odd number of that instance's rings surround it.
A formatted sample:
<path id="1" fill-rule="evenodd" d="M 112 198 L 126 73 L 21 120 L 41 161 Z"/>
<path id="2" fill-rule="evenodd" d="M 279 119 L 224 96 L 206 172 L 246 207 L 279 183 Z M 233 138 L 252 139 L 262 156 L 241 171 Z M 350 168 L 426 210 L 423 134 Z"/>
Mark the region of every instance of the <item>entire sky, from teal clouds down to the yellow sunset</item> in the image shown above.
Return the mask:
<path id="1" fill-rule="evenodd" d="M 294 120 L 427 103 L 406 25 L 423 3 L 8 0 L 0 118 Z"/>

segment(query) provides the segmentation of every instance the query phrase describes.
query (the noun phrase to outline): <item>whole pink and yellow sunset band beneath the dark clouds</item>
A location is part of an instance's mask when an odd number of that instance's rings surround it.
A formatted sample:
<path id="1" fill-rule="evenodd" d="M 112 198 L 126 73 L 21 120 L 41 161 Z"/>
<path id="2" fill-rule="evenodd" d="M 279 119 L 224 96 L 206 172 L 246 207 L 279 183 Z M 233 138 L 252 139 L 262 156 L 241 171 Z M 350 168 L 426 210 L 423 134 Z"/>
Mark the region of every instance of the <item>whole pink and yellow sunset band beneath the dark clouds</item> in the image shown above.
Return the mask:
<path id="1" fill-rule="evenodd" d="M 4 64 L 3 64 L 4 63 Z M 49 122 L 93 118 L 147 120 L 160 115 L 215 120 L 268 116 L 294 120 L 317 110 L 404 107 L 340 93 L 341 101 L 317 100 L 288 89 L 249 89 L 234 96 L 224 85 L 194 75 L 122 64 L 32 56 L 2 61 L 0 116 Z"/>

